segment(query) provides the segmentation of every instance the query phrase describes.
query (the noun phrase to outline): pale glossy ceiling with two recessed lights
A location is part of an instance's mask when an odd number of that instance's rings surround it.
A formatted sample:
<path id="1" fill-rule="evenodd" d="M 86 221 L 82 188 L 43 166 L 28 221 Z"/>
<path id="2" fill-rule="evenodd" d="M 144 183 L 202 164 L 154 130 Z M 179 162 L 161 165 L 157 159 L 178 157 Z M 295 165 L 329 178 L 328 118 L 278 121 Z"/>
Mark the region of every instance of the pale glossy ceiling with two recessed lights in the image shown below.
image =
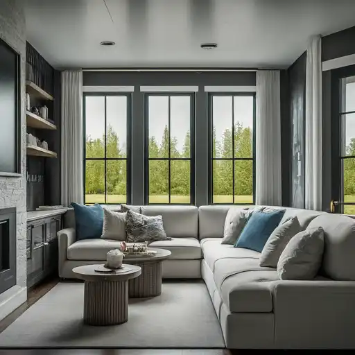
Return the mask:
<path id="1" fill-rule="evenodd" d="M 355 0 L 27 0 L 25 13 L 57 68 L 282 68 L 310 35 L 355 26 Z"/>

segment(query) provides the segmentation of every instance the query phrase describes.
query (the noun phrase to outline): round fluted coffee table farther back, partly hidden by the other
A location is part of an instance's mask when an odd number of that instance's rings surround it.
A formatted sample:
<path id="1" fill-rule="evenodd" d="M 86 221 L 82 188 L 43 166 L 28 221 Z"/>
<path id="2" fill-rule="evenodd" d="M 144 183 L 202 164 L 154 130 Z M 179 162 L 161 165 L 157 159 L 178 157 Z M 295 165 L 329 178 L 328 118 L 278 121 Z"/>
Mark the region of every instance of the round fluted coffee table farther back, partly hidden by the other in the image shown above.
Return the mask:
<path id="1" fill-rule="evenodd" d="M 171 255 L 170 250 L 149 248 L 157 253 L 152 256 L 125 255 L 123 261 L 141 267 L 141 275 L 128 282 L 131 298 L 159 296 L 162 293 L 162 261 Z"/>

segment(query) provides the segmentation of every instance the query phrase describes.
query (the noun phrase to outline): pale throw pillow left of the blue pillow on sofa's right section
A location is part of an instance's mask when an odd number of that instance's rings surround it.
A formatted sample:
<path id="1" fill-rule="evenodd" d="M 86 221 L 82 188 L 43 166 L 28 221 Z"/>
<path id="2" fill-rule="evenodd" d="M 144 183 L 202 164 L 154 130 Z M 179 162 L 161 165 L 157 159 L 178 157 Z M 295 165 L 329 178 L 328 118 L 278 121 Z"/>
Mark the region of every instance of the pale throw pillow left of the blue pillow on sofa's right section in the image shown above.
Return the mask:
<path id="1" fill-rule="evenodd" d="M 225 217 L 225 229 L 221 244 L 234 245 L 248 221 L 248 208 L 231 207 Z"/>

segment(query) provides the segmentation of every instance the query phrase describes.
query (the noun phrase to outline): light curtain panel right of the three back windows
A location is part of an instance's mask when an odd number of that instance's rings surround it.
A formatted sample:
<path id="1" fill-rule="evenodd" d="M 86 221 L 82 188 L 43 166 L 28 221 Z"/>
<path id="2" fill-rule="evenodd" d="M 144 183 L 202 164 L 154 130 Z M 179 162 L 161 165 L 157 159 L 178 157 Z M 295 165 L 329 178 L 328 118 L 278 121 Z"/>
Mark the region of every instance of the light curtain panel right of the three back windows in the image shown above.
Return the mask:
<path id="1" fill-rule="evenodd" d="M 257 205 L 282 205 L 280 73 L 257 71 Z"/>

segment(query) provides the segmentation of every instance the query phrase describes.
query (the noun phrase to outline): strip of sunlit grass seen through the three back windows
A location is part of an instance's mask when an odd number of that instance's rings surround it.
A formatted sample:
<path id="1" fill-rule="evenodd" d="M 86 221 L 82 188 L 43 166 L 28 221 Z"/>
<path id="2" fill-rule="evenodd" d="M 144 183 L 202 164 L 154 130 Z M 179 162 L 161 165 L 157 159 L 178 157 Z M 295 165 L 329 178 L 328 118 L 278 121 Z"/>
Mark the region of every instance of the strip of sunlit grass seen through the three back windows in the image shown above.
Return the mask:
<path id="1" fill-rule="evenodd" d="M 125 203 L 125 195 L 107 195 L 106 203 Z M 168 203 L 168 196 L 152 195 L 149 196 L 150 203 Z M 214 203 L 232 203 L 232 195 L 215 195 Z M 105 195 L 89 194 L 85 195 L 85 203 L 105 203 Z M 171 195 L 171 203 L 190 203 L 190 196 Z M 234 203 L 252 203 L 252 196 L 234 196 Z"/>

